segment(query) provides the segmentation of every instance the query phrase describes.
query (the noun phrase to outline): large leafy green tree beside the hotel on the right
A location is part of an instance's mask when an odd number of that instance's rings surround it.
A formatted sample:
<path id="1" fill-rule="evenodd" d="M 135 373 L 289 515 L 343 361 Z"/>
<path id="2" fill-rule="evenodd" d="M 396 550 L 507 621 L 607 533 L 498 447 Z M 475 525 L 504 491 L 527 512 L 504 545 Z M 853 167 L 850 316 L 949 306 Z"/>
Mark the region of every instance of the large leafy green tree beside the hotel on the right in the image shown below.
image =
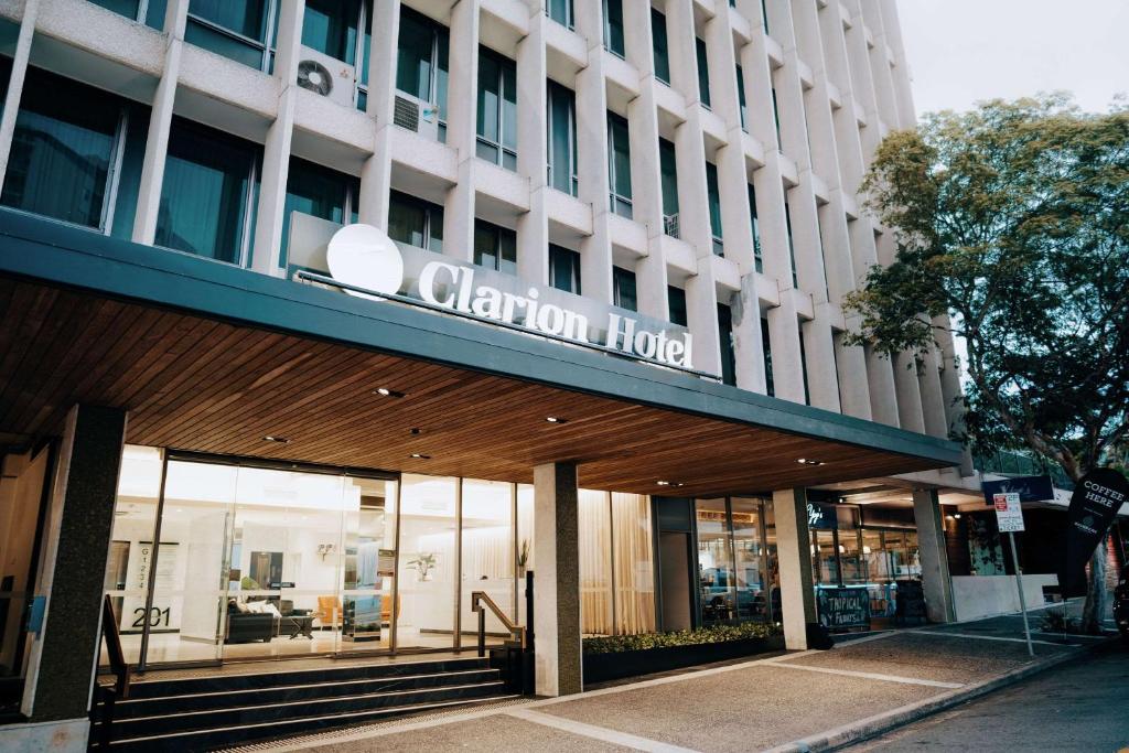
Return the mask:
<path id="1" fill-rule="evenodd" d="M 883 140 L 864 182 L 894 262 L 848 297 L 849 338 L 918 357 L 939 330 L 966 347 L 978 452 L 1026 449 L 1078 481 L 1129 440 L 1129 108 L 1062 95 L 927 115 Z M 1083 625 L 1103 608 L 1104 545 Z"/>

